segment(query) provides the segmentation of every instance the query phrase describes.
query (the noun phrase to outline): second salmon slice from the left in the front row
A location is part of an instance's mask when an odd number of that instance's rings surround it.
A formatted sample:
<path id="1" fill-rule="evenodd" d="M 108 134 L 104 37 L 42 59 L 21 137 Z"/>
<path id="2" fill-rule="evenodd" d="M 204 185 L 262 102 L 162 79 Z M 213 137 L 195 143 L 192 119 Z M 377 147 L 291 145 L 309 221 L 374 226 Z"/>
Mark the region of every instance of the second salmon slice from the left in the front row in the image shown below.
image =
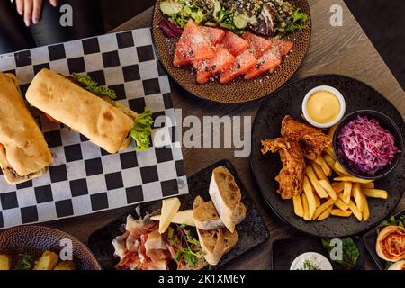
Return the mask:
<path id="1" fill-rule="evenodd" d="M 197 70 L 197 83 L 207 83 L 211 76 L 220 73 L 223 68 L 231 66 L 234 61 L 235 57 L 229 53 L 228 49 L 222 46 L 217 47 L 214 58 L 193 62 L 193 67 Z"/>

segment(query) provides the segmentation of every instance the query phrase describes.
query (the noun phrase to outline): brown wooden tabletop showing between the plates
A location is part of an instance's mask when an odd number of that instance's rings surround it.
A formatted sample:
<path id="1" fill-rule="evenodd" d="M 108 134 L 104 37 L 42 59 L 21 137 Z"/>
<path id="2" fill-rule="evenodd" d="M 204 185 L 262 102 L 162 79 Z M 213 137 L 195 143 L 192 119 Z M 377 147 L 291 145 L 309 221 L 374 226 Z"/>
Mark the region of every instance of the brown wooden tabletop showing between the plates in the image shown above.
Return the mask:
<path id="1" fill-rule="evenodd" d="M 351 76 L 374 86 L 385 95 L 398 109 L 402 116 L 405 115 L 405 94 L 401 86 L 395 80 L 389 68 L 384 64 L 373 44 L 368 40 L 365 32 L 361 29 L 356 19 L 347 9 L 343 0 L 309 0 L 312 16 L 312 38 L 308 54 L 302 67 L 293 76 L 294 81 L 305 76 L 317 74 L 341 74 Z M 332 4 L 340 4 L 343 8 L 343 27 L 332 27 L 329 23 L 329 12 Z M 152 9 L 130 19 L 114 31 L 124 31 L 136 28 L 149 27 L 151 25 Z M 191 94 L 187 94 L 175 83 L 172 86 L 172 99 L 175 108 L 183 109 L 183 117 L 195 115 L 251 115 L 254 116 L 262 101 L 244 104 L 219 104 L 202 101 Z M 361 99 L 359 99 L 361 101 Z M 269 269 L 271 259 L 271 245 L 277 238 L 302 236 L 291 229 L 283 221 L 279 220 L 270 210 L 259 193 L 254 181 L 249 159 L 234 158 L 233 150 L 229 148 L 183 148 L 184 164 L 187 175 L 202 170 L 212 163 L 228 158 L 237 168 L 247 190 L 254 198 L 259 211 L 266 220 L 271 238 L 261 247 L 248 252 L 232 263 L 231 269 Z M 405 208 L 403 197 L 396 211 Z M 46 225 L 65 230 L 83 242 L 87 242 L 88 236 L 96 229 L 129 211 L 122 208 L 113 211 L 103 211 L 92 215 L 77 217 L 74 219 L 58 220 Z M 370 257 L 366 257 L 366 268 L 373 269 L 374 265 Z"/>

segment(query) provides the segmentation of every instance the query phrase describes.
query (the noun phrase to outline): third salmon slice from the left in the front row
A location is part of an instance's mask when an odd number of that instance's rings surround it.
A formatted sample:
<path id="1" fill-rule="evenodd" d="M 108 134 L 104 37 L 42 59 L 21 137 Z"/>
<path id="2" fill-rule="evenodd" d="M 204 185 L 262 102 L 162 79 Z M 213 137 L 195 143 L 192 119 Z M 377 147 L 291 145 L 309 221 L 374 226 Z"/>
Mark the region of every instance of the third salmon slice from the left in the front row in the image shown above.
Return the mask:
<path id="1" fill-rule="evenodd" d="M 245 74 L 257 64 L 257 58 L 246 49 L 238 55 L 229 67 L 225 67 L 220 73 L 220 84 L 226 84 L 237 76 Z"/>

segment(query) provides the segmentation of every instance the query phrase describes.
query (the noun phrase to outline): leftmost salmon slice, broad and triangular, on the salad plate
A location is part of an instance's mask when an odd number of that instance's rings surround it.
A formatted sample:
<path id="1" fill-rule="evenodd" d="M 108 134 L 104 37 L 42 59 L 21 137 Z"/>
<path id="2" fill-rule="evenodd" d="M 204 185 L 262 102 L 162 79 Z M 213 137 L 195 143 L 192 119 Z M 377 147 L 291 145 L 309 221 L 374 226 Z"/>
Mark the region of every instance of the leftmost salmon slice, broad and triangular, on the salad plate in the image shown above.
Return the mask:
<path id="1" fill-rule="evenodd" d="M 184 27 L 182 36 L 175 46 L 175 58 L 173 65 L 180 67 L 187 65 L 191 61 L 198 61 L 215 56 L 210 44 L 202 35 L 202 31 L 192 19 Z"/>

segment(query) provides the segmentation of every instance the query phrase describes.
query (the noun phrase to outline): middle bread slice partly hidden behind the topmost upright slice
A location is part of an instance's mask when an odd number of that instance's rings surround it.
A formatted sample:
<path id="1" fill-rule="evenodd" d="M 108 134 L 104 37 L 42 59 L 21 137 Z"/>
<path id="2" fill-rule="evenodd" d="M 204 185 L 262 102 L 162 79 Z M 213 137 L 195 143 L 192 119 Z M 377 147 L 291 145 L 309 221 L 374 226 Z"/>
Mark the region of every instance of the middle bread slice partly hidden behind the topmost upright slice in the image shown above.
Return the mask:
<path id="1" fill-rule="evenodd" d="M 246 217 L 246 207 L 240 202 L 236 224 L 239 224 Z M 220 220 L 217 210 L 212 201 L 202 202 L 196 209 L 193 210 L 193 219 L 195 227 L 202 230 L 210 230 L 224 227 L 224 223 Z"/>

